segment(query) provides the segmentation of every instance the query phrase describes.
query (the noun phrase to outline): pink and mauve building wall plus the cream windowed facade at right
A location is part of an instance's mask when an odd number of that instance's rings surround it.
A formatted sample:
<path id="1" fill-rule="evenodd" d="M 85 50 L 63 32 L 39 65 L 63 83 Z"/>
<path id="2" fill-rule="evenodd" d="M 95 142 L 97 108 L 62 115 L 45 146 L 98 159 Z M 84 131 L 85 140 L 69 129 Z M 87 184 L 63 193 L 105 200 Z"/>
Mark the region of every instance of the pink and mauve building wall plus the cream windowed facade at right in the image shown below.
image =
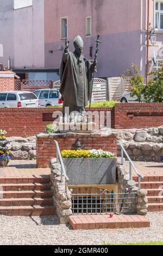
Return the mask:
<path id="1" fill-rule="evenodd" d="M 148 19 L 149 16 L 149 19 Z M 156 27 L 155 45 L 147 31 Z M 116 77 L 137 64 L 146 77 L 147 69 L 159 67 L 163 60 L 163 1 L 160 0 L 47 0 L 45 1 L 45 64 L 59 66 L 65 37 L 84 39 L 84 55 L 94 58 L 97 34 L 103 42 L 98 53 L 96 77 Z M 147 53 L 148 48 L 148 53 Z M 52 52 L 49 52 L 52 49 Z M 148 66 L 147 66 L 148 63 Z"/>

